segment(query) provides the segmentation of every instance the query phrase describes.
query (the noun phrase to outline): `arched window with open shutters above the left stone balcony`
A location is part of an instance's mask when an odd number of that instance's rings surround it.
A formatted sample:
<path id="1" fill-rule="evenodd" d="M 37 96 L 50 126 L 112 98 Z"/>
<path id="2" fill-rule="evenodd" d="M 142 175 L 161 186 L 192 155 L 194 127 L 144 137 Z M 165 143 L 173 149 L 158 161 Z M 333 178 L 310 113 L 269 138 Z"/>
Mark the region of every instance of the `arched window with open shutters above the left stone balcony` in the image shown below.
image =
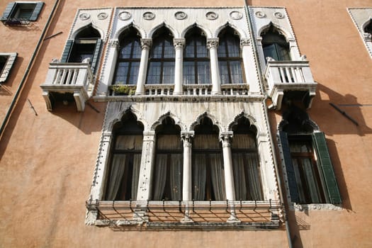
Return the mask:
<path id="1" fill-rule="evenodd" d="M 90 59 L 91 69 L 96 70 L 98 57 L 101 52 L 101 35 L 92 26 L 81 30 L 74 40 L 67 40 L 61 62 L 83 62 Z"/>

